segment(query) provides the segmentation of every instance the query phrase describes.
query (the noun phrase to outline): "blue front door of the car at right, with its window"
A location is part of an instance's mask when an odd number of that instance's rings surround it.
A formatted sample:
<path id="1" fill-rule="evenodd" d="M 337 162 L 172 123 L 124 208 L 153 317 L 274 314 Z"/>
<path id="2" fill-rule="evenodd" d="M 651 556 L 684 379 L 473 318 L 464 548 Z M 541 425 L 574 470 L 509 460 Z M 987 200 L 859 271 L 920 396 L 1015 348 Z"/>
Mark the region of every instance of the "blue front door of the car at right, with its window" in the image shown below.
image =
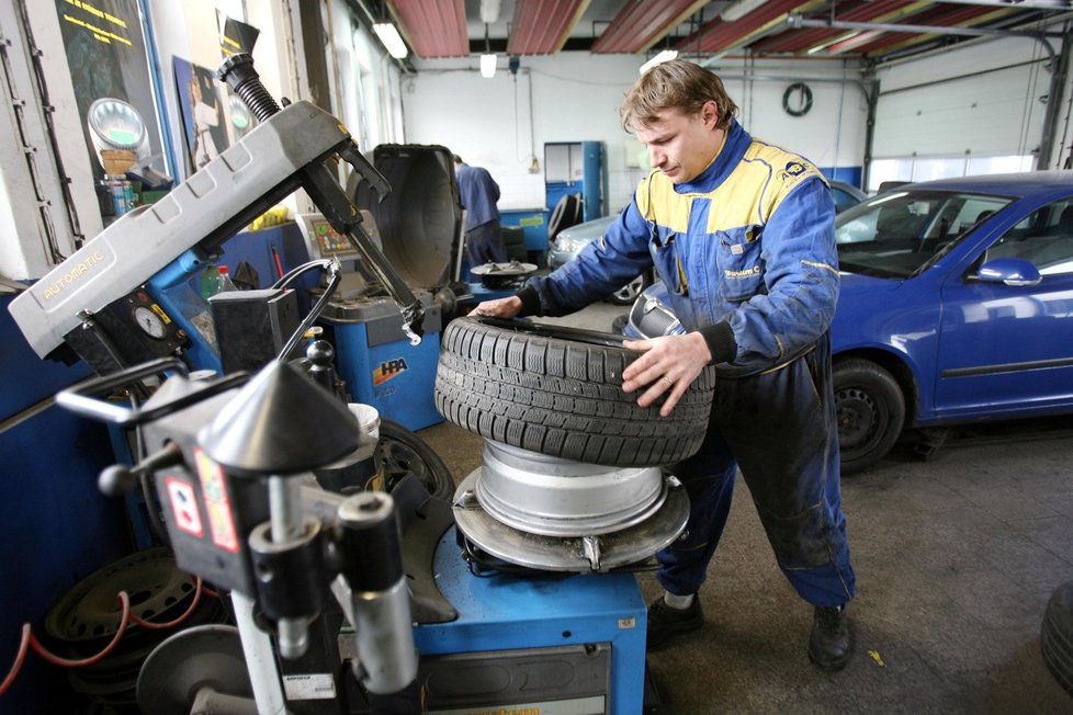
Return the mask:
<path id="1" fill-rule="evenodd" d="M 1031 212 L 974 258 L 942 288 L 936 417 L 1027 416 L 1073 404 L 1073 198 Z M 999 258 L 1031 261 L 1042 280 L 981 281 L 979 268 Z"/>

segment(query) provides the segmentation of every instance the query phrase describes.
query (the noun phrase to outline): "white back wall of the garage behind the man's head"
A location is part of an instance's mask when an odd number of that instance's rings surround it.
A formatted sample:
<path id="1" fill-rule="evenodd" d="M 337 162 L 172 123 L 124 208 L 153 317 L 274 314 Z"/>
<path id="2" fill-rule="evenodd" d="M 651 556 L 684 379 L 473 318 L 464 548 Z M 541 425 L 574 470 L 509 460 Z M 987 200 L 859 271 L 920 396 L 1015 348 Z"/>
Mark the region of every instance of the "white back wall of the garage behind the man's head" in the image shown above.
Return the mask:
<path id="1" fill-rule="evenodd" d="M 633 55 L 561 53 L 522 57 L 517 76 L 506 58 L 493 79 L 483 79 L 477 58 L 426 60 L 403 78 L 407 141 L 442 144 L 499 182 L 500 208 L 544 205 L 543 175 L 531 173 L 533 155 L 543 169 L 547 141 L 603 141 L 608 156 L 610 212 L 624 206 L 645 170 L 643 146 L 619 123 L 618 106 L 637 79 Z M 858 167 L 863 157 L 863 95 L 849 80 L 858 73 L 840 61 L 754 64 L 746 71 L 726 64 L 712 69 L 726 78 L 745 127 L 783 144 L 824 167 Z M 844 78 L 847 81 L 843 81 Z M 794 81 L 814 79 L 812 111 L 792 117 L 782 93 Z M 829 80 L 829 81 L 818 81 Z"/>

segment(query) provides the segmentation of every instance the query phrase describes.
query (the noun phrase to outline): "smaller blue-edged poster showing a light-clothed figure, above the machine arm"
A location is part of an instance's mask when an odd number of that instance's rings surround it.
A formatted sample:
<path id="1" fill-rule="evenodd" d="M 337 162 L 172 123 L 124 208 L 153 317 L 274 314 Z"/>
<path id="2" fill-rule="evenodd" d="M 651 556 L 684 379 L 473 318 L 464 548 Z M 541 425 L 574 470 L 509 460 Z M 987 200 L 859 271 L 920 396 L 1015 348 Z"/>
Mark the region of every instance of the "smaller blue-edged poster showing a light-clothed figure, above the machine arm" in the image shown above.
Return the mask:
<path id="1" fill-rule="evenodd" d="M 193 173 L 227 148 L 228 113 L 212 70 L 179 57 L 174 58 L 174 68 L 189 173 Z"/>

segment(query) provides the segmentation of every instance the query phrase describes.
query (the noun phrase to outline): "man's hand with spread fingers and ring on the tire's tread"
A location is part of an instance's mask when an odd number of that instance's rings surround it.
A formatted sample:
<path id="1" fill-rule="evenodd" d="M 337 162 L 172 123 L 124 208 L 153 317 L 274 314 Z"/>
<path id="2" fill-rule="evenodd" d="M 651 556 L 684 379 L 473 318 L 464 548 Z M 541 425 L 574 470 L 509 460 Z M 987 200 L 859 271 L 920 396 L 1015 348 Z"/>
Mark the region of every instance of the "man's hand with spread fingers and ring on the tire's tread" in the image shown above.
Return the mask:
<path id="1" fill-rule="evenodd" d="M 663 417 L 675 410 L 681 396 L 712 361 L 708 343 L 699 332 L 652 340 L 623 340 L 622 347 L 644 353 L 623 371 L 622 391 L 632 393 L 647 385 L 648 389 L 637 398 L 637 405 L 648 407 L 657 397 L 670 390 L 659 408 Z"/>

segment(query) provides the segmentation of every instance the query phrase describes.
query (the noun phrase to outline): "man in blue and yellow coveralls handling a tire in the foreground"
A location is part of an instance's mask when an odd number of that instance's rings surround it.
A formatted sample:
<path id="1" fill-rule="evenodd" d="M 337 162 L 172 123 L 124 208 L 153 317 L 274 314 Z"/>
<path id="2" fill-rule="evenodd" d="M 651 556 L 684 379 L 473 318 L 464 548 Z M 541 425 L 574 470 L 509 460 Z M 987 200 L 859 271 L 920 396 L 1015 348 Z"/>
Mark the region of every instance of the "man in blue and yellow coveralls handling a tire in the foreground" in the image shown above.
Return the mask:
<path id="1" fill-rule="evenodd" d="M 633 202 L 574 261 L 474 313 L 565 315 L 655 266 L 688 332 L 624 341 L 642 355 L 623 390 L 641 407 L 663 398 L 667 416 L 709 363 L 716 387 L 700 451 L 668 467 L 690 514 L 657 555 L 666 593 L 648 606 L 648 647 L 703 625 L 697 592 L 741 467 L 779 567 L 814 606 L 809 658 L 838 670 L 851 654 L 856 578 L 831 382 L 835 208 L 812 163 L 754 139 L 736 111 L 719 77 L 692 63 L 644 73 L 620 107 L 653 166 Z"/>

